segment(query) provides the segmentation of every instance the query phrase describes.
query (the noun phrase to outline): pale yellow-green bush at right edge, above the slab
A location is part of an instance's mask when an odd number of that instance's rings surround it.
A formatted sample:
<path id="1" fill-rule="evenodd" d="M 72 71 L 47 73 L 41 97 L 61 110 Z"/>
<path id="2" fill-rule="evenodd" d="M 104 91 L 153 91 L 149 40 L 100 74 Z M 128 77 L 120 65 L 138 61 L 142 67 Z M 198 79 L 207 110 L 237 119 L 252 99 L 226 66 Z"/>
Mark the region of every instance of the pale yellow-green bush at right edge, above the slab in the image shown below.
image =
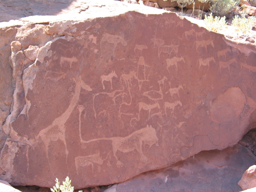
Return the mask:
<path id="1" fill-rule="evenodd" d="M 238 17 L 238 15 L 236 15 L 235 18 L 232 20 L 232 26 L 235 27 L 236 31 L 241 31 L 245 34 L 252 29 L 252 25 L 254 22 L 255 17 L 253 16 L 246 18 L 245 16 Z"/>

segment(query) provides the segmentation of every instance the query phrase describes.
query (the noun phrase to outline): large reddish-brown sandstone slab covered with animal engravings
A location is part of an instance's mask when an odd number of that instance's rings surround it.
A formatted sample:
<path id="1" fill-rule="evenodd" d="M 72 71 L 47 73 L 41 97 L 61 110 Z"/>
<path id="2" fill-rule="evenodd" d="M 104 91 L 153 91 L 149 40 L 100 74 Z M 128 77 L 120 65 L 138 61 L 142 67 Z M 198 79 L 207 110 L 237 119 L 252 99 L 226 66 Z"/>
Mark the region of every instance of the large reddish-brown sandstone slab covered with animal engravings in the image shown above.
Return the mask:
<path id="1" fill-rule="evenodd" d="M 22 33 L 12 43 L 12 61 L 26 68 L 3 127 L 1 179 L 12 185 L 122 182 L 232 146 L 255 122 L 252 44 L 175 13 L 52 21 L 44 32 L 44 46 Z M 28 50 L 38 52 L 29 67 Z"/>

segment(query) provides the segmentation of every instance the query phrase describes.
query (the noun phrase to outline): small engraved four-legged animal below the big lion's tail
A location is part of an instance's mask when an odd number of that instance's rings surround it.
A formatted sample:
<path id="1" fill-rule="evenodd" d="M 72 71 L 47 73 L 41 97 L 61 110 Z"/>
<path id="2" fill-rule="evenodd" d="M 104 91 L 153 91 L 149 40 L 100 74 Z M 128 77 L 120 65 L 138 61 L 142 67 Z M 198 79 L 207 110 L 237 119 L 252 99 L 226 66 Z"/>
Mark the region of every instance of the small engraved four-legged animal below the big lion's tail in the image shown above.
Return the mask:
<path id="1" fill-rule="evenodd" d="M 78 170 L 81 167 L 87 167 L 90 165 L 92 166 L 93 172 L 93 164 L 102 165 L 104 160 L 101 158 L 100 153 L 95 153 L 88 156 L 77 156 L 75 158 L 76 173 L 78 174 Z"/>

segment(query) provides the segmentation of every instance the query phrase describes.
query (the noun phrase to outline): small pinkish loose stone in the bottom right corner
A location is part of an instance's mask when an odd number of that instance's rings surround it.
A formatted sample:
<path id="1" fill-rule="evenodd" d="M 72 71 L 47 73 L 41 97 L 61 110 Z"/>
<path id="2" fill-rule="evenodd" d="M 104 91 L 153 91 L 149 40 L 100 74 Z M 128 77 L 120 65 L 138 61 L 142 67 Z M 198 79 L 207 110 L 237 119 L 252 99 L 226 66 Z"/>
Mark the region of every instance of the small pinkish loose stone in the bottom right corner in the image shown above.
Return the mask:
<path id="1" fill-rule="evenodd" d="M 256 165 L 250 166 L 243 174 L 238 185 L 243 189 L 250 189 L 256 187 Z"/>

